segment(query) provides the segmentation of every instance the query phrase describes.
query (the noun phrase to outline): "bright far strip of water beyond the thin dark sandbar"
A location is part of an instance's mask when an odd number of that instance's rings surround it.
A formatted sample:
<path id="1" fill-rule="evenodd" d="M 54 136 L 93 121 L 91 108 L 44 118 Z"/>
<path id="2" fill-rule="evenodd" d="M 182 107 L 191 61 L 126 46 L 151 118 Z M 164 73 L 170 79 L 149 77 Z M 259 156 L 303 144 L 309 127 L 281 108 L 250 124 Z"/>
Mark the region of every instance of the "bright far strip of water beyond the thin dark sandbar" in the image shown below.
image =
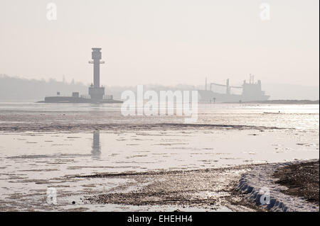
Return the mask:
<path id="1" fill-rule="evenodd" d="M 127 116 L 120 104 L 0 103 L 0 123 L 183 123 L 177 116 Z M 319 131 L 319 105 L 198 105 L 197 124 L 257 125 Z"/>

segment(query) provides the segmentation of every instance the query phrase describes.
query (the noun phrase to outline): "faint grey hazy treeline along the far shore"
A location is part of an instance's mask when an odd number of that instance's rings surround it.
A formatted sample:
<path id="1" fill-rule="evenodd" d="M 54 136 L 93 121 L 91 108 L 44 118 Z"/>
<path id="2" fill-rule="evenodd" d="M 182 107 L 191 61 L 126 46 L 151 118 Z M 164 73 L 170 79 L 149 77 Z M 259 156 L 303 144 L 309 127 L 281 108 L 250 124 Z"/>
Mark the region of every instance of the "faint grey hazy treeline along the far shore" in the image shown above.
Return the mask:
<path id="1" fill-rule="evenodd" d="M 49 81 L 22 79 L 0 74 L 0 101 L 41 101 L 45 96 L 55 96 L 57 92 L 60 92 L 61 96 L 71 96 L 74 91 L 80 92 L 80 95 L 87 95 L 87 87 L 88 84 L 75 81 L 64 82 L 56 81 L 55 79 L 49 79 Z M 157 92 L 169 90 L 191 91 L 197 89 L 205 89 L 204 84 L 202 86 L 186 84 L 178 84 L 176 86 L 163 86 L 159 84 L 144 85 L 144 91 L 153 90 Z M 262 84 L 262 89 L 267 95 L 271 96 L 270 100 L 319 100 L 319 86 L 316 85 Z M 125 90 L 136 92 L 137 86 L 105 87 L 106 94 L 113 95 L 114 99 L 117 100 L 121 98 L 122 91 Z M 289 103 L 289 101 L 287 103 Z"/>

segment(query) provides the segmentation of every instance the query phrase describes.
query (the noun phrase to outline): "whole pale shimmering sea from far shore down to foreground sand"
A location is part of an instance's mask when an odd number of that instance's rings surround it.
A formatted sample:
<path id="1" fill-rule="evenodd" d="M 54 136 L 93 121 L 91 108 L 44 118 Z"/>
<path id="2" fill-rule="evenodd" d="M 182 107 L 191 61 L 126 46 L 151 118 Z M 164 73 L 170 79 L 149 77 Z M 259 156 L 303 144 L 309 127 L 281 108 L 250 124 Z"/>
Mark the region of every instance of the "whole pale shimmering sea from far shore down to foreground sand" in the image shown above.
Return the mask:
<path id="1" fill-rule="evenodd" d="M 66 179 L 75 175 L 319 159 L 319 105 L 199 103 L 193 124 L 176 115 L 123 116 L 120 108 L 0 103 L 0 203 L 41 210 L 30 197 L 49 186 L 81 196 L 127 183 L 88 188 Z"/>

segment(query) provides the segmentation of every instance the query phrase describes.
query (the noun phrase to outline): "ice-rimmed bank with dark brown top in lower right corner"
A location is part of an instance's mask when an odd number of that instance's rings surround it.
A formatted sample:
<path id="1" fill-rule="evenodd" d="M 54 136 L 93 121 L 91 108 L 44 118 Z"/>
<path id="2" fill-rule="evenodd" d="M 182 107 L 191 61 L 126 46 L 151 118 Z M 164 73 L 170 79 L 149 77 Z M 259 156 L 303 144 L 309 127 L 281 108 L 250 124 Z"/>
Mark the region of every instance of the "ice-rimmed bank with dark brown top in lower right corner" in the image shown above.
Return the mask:
<path id="1" fill-rule="evenodd" d="M 264 210 L 319 212 L 315 201 L 319 198 L 319 160 L 252 166 L 242 174 L 236 191 Z"/>

